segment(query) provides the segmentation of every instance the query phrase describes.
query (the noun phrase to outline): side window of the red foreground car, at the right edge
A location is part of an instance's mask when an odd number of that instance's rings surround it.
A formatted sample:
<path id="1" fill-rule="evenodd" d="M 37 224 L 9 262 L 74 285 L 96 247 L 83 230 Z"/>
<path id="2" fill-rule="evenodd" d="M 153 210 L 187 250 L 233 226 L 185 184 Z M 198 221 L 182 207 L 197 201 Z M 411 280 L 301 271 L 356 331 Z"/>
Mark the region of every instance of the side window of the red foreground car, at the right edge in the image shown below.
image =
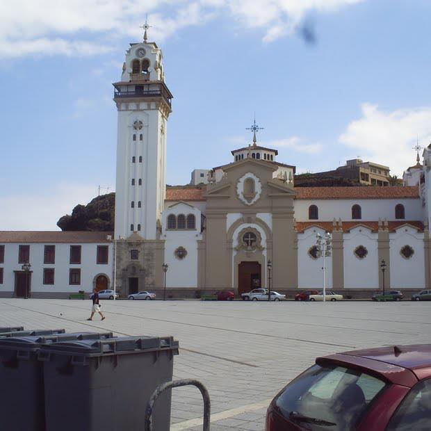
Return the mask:
<path id="1" fill-rule="evenodd" d="M 388 431 L 430 430 L 431 379 L 419 382 L 392 416 Z"/>

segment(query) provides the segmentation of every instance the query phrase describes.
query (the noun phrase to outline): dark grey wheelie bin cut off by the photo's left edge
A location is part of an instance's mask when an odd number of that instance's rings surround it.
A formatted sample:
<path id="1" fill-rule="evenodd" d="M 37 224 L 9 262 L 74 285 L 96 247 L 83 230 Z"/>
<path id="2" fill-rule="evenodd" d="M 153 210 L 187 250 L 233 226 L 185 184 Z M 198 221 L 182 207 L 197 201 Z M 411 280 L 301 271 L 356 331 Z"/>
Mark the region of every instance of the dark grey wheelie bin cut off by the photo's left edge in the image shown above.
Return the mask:
<path id="1" fill-rule="evenodd" d="M 44 431 L 44 344 L 76 339 L 111 339 L 112 332 L 79 332 L 0 338 L 0 430 Z"/>

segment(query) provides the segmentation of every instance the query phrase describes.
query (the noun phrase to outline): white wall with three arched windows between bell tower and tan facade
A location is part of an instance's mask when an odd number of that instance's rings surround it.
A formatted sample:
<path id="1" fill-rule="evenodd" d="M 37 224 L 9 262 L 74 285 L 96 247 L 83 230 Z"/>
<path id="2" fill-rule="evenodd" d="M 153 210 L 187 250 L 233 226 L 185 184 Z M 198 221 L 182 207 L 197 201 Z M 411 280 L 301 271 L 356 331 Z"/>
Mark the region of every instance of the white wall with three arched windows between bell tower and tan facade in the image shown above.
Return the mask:
<path id="1" fill-rule="evenodd" d="M 195 230 L 168 230 L 168 215 L 194 214 Z M 163 230 L 161 239 L 165 239 L 165 263 L 169 269 L 166 276 L 166 286 L 170 288 L 197 287 L 197 241 L 202 239 L 201 213 L 199 209 L 180 202 L 168 206 L 163 211 Z M 184 247 L 187 255 L 184 259 L 175 256 L 175 250 Z"/>

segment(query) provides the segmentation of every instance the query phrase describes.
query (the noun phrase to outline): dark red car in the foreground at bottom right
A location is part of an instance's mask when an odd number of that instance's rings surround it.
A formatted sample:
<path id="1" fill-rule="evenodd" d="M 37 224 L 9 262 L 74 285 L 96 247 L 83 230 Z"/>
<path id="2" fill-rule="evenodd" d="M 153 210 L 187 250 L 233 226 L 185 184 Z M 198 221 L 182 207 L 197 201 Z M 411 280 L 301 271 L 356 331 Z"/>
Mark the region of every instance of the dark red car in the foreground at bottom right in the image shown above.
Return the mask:
<path id="1" fill-rule="evenodd" d="M 431 430 L 431 344 L 318 357 L 271 402 L 266 431 Z"/>

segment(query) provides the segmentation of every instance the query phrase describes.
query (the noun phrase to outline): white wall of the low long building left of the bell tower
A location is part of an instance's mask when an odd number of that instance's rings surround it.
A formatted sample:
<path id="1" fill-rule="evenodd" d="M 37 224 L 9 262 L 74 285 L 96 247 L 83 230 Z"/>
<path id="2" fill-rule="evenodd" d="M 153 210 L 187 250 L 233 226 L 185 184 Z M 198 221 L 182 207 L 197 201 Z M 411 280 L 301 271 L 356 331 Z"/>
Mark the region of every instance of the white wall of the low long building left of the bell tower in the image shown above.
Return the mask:
<path id="1" fill-rule="evenodd" d="M 56 246 L 55 264 L 44 264 L 45 243 L 26 243 L 30 245 L 31 270 L 31 291 L 32 292 L 67 292 L 77 293 L 78 291 L 91 292 L 93 280 L 99 274 L 106 275 L 110 286 L 113 286 L 113 245 L 112 243 L 46 243 Z M 70 264 L 70 245 L 81 245 L 81 264 Z M 108 264 L 98 264 L 97 245 L 108 245 Z M 3 284 L 0 284 L 0 291 L 15 290 L 14 271 L 22 270 L 22 263 L 18 263 L 18 243 L 5 244 L 5 260 L 3 267 Z M 54 268 L 54 284 L 43 284 L 43 268 Z M 70 268 L 81 268 L 81 284 L 79 286 L 69 284 Z"/>

